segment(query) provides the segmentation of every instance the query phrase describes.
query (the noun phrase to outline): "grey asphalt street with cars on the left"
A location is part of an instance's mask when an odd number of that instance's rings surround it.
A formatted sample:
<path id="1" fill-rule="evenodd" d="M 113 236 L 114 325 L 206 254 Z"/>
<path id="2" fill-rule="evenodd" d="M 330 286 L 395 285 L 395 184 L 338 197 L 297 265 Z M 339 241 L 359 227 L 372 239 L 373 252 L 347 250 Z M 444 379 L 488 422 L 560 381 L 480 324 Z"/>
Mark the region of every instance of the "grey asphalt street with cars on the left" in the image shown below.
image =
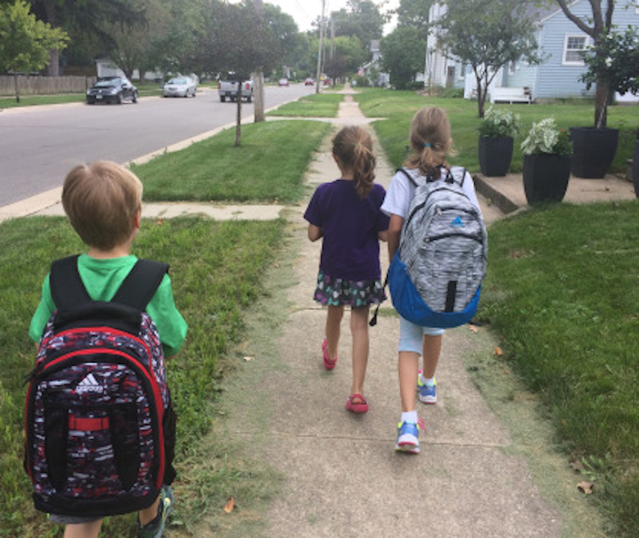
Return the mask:
<path id="1" fill-rule="evenodd" d="M 265 108 L 312 93 L 304 84 L 267 86 Z M 242 116 L 253 114 L 242 103 Z M 84 103 L 0 109 L 0 207 L 60 186 L 79 162 L 128 162 L 233 123 L 236 104 L 217 90 L 196 98 L 141 97 L 137 104 Z"/>

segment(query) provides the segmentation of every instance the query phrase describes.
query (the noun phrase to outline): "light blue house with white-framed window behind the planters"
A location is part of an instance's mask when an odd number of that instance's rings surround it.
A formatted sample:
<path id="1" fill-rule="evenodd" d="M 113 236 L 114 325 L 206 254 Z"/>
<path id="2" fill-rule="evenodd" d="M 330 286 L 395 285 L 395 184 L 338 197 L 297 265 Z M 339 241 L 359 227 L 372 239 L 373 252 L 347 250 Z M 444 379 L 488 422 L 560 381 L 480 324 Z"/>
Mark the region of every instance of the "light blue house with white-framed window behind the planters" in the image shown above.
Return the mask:
<path id="1" fill-rule="evenodd" d="M 576 0 L 569 7 L 588 26 L 592 24 L 589 22 L 592 8 L 588 0 Z M 581 52 L 593 45 L 592 38 L 568 19 L 559 6 L 547 9 L 530 6 L 528 14 L 536 22 L 537 43 L 544 61 L 534 66 L 520 61 L 503 68 L 495 77 L 493 86 L 496 91 L 493 93 L 504 96 L 508 94 L 505 88 L 511 88 L 511 93 L 528 88 L 533 100 L 594 96 L 594 88 L 587 91 L 585 84 L 579 80 L 586 69 Z M 616 0 L 612 22 L 617 31 L 639 26 L 639 2 Z M 504 90 L 499 90 L 500 87 Z M 491 100 L 495 100 L 494 97 L 491 96 Z"/>

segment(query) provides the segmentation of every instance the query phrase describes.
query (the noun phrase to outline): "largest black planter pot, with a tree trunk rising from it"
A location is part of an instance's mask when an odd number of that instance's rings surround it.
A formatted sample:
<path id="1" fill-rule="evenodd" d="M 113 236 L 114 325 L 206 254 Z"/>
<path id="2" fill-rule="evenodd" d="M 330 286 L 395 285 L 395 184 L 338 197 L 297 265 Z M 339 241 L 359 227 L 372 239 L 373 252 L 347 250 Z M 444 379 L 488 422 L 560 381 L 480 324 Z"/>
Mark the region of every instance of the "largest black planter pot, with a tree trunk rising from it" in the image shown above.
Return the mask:
<path id="1" fill-rule="evenodd" d="M 619 131 L 608 127 L 571 127 L 570 139 L 574 148 L 573 175 L 589 179 L 604 177 L 617 152 Z"/>

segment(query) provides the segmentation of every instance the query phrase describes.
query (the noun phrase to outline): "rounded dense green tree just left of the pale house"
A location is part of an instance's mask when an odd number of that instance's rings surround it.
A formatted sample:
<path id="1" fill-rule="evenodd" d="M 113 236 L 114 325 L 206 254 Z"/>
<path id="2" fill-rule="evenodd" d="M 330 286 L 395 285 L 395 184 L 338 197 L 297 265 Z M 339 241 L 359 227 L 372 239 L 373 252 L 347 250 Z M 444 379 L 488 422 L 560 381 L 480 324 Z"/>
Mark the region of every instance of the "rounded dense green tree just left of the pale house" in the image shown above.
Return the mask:
<path id="1" fill-rule="evenodd" d="M 380 42 L 381 69 L 390 75 L 397 90 L 405 90 L 415 81 L 415 74 L 424 68 L 426 39 L 413 26 L 397 28 Z"/>

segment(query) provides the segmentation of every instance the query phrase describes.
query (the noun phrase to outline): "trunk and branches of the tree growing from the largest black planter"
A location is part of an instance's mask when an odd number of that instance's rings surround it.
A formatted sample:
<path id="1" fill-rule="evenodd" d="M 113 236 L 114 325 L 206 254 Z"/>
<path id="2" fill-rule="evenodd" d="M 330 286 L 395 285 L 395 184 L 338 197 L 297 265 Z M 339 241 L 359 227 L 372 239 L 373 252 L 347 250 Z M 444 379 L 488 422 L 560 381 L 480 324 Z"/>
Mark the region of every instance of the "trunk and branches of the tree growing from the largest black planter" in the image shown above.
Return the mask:
<path id="1" fill-rule="evenodd" d="M 603 10 L 601 4 L 602 0 L 589 0 L 590 7 L 592 8 L 592 18 L 582 19 L 573 12 L 571 12 L 572 2 L 567 0 L 556 0 L 557 4 L 561 8 L 564 15 L 576 24 L 576 26 L 585 34 L 592 37 L 594 40 L 594 51 L 597 56 L 594 63 L 595 67 L 603 66 L 606 56 L 605 46 L 603 40 L 606 35 L 610 33 L 612 29 L 612 14 L 615 10 L 615 0 L 605 0 L 606 9 Z M 553 0 L 555 3 L 555 0 Z M 548 2 L 546 2 L 548 4 Z M 633 3 L 626 2 L 626 6 L 630 6 Z M 606 77 L 606 70 L 601 67 L 601 70 L 597 70 L 595 77 L 596 89 L 595 89 L 595 125 L 596 127 L 606 127 L 608 122 L 608 97 L 610 93 L 610 83 Z"/>

